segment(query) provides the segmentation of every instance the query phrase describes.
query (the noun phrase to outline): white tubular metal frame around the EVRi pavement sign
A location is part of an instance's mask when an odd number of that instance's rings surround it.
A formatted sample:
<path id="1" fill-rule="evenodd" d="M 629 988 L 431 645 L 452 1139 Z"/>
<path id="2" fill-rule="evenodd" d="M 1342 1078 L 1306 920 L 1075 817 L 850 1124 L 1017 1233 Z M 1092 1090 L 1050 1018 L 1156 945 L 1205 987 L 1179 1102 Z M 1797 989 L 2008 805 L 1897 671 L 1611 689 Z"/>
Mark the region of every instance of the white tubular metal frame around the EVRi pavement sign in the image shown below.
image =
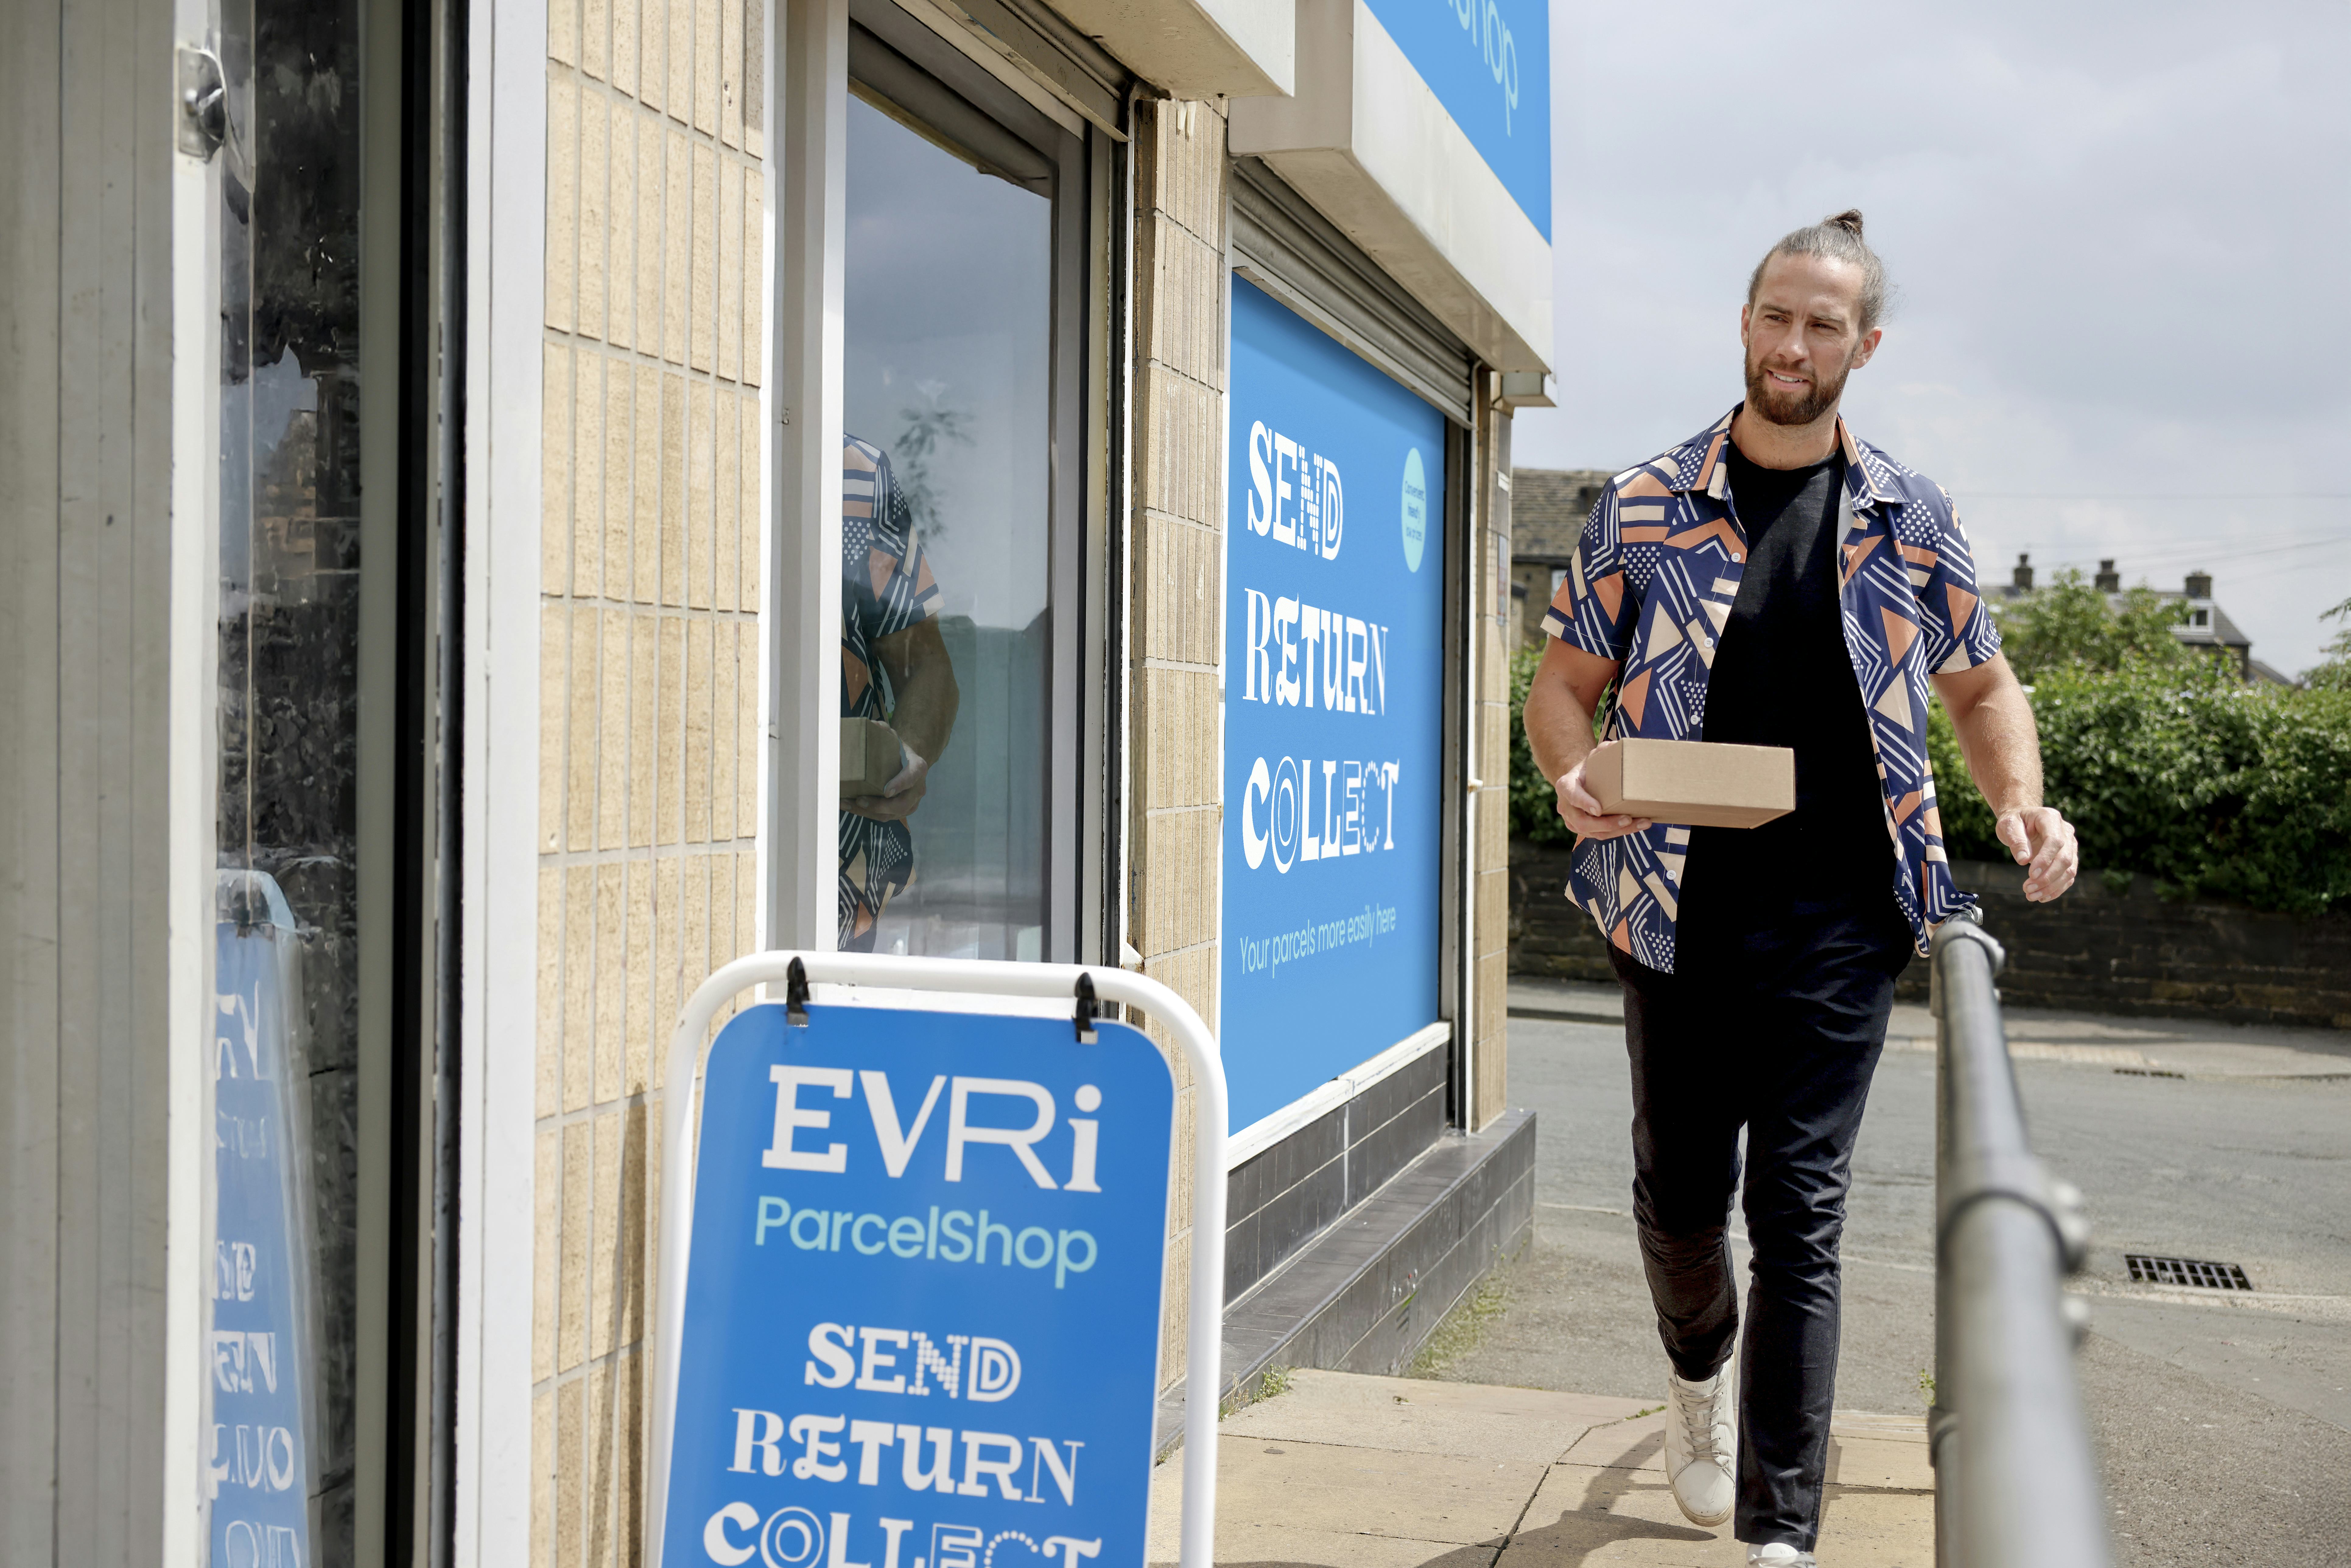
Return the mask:
<path id="1" fill-rule="evenodd" d="M 684 1354 L 686 1262 L 694 1246 L 694 1128 L 710 1020 L 752 985 L 781 985 L 792 964 L 811 985 L 868 985 L 929 992 L 976 1004 L 1020 997 L 1077 1004 L 1079 980 L 1093 997 L 1121 1001 L 1164 1023 L 1192 1067 L 1192 1319 L 1185 1338 L 1183 1418 L 1183 1568 L 1211 1568 L 1215 1556 L 1215 1415 L 1223 1392 L 1225 1331 L 1225 1063 L 1215 1037 L 1166 985 L 1124 969 L 1086 964 L 997 964 L 983 959 L 903 959 L 875 952 L 755 952 L 703 980 L 670 1037 L 661 1103 L 661 1255 L 656 1279 L 654 1441 L 644 1514 L 644 1552 L 661 1568 L 670 1500 L 670 1439 L 677 1425 L 677 1366 Z M 1020 1009 L 1030 1013 L 1032 1009 Z"/>

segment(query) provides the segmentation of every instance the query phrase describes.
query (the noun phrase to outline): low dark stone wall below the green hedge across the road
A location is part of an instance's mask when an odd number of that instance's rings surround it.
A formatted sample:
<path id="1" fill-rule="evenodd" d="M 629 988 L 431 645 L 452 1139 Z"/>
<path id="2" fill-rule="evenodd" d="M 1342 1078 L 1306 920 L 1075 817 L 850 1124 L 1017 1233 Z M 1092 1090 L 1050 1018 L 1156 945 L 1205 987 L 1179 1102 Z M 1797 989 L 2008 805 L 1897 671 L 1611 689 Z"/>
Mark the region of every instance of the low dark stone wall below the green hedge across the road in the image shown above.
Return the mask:
<path id="1" fill-rule="evenodd" d="M 1608 980 L 1601 933 L 1561 891 L 1566 849 L 1512 844 L 1509 870 L 1512 973 Z M 2351 1030 L 2351 917 L 2175 900 L 2151 877 L 2102 872 L 2036 905 L 2010 865 L 1951 870 L 2008 947 L 2001 997 L 2015 1006 Z M 1925 999 L 1925 964 L 1902 976 L 1902 997 Z"/>

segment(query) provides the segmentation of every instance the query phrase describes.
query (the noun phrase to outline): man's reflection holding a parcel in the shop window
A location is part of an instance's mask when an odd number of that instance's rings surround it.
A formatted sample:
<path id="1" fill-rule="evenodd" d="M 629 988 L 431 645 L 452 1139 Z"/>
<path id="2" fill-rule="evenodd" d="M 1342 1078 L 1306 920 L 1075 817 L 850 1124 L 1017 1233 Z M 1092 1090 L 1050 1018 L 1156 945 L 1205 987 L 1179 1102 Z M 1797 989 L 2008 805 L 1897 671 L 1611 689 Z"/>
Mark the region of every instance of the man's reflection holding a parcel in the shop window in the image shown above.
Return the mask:
<path id="1" fill-rule="evenodd" d="M 938 583 L 879 447 L 842 437 L 842 717 L 898 731 L 882 795 L 842 799 L 839 945 L 872 952 L 875 922 L 915 882 L 924 776 L 955 729 L 955 665 L 938 635 Z"/>

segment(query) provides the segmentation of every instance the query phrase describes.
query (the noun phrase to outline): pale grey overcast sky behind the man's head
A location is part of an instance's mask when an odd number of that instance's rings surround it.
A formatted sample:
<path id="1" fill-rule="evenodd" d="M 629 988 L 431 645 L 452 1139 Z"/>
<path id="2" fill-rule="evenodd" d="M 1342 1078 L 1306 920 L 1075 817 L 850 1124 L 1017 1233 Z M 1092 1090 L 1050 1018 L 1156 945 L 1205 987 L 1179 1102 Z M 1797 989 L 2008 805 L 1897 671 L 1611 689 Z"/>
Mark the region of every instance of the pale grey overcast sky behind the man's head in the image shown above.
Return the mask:
<path id="1" fill-rule="evenodd" d="M 1763 249 L 1869 219 L 1895 306 L 1846 388 L 2020 550 L 2210 569 L 2295 672 L 2351 595 L 2351 5 L 1552 7 L 1556 409 L 1521 468 L 1627 468 L 1740 397 Z"/>

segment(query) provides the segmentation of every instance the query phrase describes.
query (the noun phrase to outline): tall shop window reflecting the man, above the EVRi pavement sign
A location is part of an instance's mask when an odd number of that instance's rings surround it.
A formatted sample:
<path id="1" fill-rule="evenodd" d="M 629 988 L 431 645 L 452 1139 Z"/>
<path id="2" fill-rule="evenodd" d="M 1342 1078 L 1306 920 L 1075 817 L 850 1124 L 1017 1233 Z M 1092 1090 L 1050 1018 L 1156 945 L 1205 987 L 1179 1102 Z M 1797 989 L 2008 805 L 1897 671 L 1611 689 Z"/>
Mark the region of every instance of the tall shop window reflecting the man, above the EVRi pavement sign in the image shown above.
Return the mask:
<path id="1" fill-rule="evenodd" d="M 839 940 L 1074 957 L 1077 715 L 1056 691 L 1084 148 L 875 12 L 849 52 L 842 440 L 842 715 L 872 724 L 844 724 Z"/>

